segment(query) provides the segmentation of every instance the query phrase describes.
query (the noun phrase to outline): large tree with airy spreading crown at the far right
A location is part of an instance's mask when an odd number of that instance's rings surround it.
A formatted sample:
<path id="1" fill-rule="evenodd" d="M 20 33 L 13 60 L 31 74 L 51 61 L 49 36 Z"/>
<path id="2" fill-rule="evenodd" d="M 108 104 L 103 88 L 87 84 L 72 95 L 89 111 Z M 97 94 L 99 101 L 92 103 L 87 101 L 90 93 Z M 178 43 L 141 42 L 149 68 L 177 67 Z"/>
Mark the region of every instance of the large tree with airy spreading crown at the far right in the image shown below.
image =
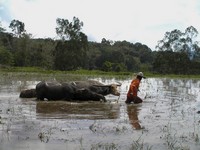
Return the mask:
<path id="1" fill-rule="evenodd" d="M 158 41 L 156 46 L 159 52 L 154 60 L 153 69 L 160 73 L 191 74 L 191 70 L 197 73 L 198 69 L 195 67 L 200 60 L 197 36 L 198 31 L 193 26 L 186 28 L 183 33 L 177 29 L 166 32 L 163 40 Z"/>

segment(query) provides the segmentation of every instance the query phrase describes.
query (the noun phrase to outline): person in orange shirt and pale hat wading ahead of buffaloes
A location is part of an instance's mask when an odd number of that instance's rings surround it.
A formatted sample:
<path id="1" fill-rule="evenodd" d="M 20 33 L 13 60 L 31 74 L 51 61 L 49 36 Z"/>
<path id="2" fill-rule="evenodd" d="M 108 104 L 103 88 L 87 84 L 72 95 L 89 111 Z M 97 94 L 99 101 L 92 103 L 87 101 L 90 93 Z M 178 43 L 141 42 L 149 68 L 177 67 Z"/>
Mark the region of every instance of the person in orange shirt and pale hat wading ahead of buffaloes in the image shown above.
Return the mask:
<path id="1" fill-rule="evenodd" d="M 127 104 L 130 104 L 131 102 L 133 102 L 134 104 L 143 102 L 143 100 L 137 96 L 137 92 L 139 91 L 140 81 L 142 80 L 142 78 L 146 78 L 146 77 L 144 77 L 142 72 L 139 72 L 137 73 L 136 78 L 131 81 L 131 84 L 127 93 L 127 99 L 126 99 Z"/>

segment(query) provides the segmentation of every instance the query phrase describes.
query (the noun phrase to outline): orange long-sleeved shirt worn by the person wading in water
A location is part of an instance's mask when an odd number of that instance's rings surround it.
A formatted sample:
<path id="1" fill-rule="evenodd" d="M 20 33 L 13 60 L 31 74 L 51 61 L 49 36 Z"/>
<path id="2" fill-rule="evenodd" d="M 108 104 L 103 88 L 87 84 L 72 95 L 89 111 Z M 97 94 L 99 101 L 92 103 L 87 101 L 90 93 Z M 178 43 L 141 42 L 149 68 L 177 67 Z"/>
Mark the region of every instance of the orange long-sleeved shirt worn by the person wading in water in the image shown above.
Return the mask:
<path id="1" fill-rule="evenodd" d="M 139 85 L 140 85 L 140 80 L 137 79 L 137 78 L 133 79 L 132 82 L 131 82 L 131 84 L 130 84 L 127 96 L 130 96 L 131 93 L 132 93 L 133 96 L 137 96 Z"/>

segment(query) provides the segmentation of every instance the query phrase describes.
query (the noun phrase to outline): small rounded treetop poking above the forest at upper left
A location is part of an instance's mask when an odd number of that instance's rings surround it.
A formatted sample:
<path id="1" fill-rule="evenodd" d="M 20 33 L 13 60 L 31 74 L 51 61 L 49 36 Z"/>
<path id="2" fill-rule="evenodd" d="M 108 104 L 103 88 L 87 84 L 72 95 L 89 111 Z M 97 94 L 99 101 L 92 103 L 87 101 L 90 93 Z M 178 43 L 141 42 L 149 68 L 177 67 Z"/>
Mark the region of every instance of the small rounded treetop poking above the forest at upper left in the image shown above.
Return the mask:
<path id="1" fill-rule="evenodd" d="M 14 32 L 17 37 L 20 37 L 23 33 L 26 32 L 25 24 L 15 19 L 11 21 L 9 28 L 12 29 L 12 32 Z"/>

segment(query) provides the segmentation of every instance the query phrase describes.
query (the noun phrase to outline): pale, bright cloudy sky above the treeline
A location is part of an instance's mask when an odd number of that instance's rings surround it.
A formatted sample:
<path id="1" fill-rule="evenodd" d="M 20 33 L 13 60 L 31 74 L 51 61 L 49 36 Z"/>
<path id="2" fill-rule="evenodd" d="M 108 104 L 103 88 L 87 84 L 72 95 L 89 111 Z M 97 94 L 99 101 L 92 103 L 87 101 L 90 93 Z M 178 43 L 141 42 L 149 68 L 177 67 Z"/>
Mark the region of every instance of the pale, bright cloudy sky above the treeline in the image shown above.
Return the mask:
<path id="1" fill-rule="evenodd" d="M 57 38 L 56 19 L 79 18 L 89 41 L 140 42 L 152 50 L 166 32 L 200 32 L 200 0 L 0 0 L 0 22 L 13 19 L 34 38 Z M 199 40 L 199 39 L 197 39 Z"/>

